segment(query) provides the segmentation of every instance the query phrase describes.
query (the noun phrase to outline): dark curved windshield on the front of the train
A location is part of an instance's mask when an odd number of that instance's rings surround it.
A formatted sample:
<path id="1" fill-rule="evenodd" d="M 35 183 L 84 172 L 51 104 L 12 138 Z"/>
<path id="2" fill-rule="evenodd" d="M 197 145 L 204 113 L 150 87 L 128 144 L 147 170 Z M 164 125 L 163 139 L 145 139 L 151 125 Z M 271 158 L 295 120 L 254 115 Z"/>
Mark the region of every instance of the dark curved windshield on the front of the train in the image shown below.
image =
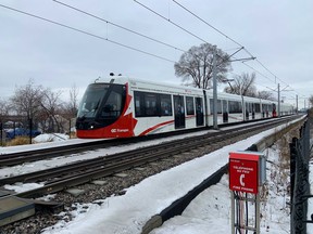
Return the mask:
<path id="1" fill-rule="evenodd" d="M 79 105 L 76 128 L 96 129 L 113 123 L 123 112 L 125 99 L 125 86 L 89 84 Z"/>

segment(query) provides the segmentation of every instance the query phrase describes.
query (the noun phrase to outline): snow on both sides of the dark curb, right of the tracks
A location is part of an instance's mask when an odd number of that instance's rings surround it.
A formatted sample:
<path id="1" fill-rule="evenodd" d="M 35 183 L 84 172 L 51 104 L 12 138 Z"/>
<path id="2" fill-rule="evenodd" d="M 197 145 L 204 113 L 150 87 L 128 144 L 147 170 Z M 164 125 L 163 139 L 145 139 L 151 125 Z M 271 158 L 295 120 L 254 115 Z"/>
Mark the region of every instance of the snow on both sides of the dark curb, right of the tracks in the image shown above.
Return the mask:
<path id="1" fill-rule="evenodd" d="M 123 196 L 112 196 L 95 204 L 76 205 L 77 209 L 73 213 L 74 220 L 59 222 L 46 229 L 45 233 L 139 234 L 152 216 L 160 213 L 224 166 L 228 161 L 229 152 L 245 150 L 275 131 L 277 129 L 264 131 L 150 177 L 127 188 Z M 288 177 L 287 181 L 279 181 L 280 174 L 277 173 L 279 171 L 277 168 L 280 167 L 279 151 L 273 147 L 264 153 L 268 155 L 271 164 L 267 164 L 266 191 L 268 193 L 265 193 L 266 196 L 261 207 L 261 229 L 262 232 L 267 230 L 277 234 L 289 233 L 289 207 L 286 205 Z M 230 198 L 227 184 L 227 177 L 224 177 L 221 183 L 210 187 L 198 199 L 195 199 L 192 204 L 196 203 L 196 205 L 190 205 L 183 216 L 165 222 L 162 227 L 152 233 L 218 233 L 216 230 L 229 233 Z M 83 210 L 82 207 L 84 207 Z"/>

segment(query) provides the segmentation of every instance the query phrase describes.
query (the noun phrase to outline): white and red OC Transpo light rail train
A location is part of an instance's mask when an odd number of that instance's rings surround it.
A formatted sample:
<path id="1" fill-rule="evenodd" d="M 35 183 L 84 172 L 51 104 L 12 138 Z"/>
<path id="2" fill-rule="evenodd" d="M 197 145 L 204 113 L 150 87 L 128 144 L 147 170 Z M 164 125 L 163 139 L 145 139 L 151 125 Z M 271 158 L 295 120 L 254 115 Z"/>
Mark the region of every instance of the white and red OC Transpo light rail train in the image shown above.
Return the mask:
<path id="1" fill-rule="evenodd" d="M 111 76 L 90 83 L 79 105 L 82 139 L 132 138 L 213 126 L 213 92 Z M 217 123 L 276 117 L 277 102 L 217 93 Z M 281 103 L 280 115 L 292 114 Z"/>

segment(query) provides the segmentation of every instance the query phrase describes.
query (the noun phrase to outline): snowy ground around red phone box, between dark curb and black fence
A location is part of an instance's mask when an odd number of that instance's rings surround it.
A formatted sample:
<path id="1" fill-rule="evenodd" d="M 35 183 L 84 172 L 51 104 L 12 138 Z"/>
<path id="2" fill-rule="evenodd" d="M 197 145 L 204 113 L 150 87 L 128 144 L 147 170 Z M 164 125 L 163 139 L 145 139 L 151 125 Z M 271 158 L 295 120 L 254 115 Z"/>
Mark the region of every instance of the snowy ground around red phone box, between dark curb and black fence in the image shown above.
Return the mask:
<path id="1" fill-rule="evenodd" d="M 290 233 L 290 207 L 287 205 L 290 198 L 286 187 L 289 161 L 281 158 L 276 144 L 264 154 L 271 162 L 267 162 L 267 183 L 261 197 L 261 233 L 287 234 Z M 181 216 L 166 221 L 150 234 L 231 233 L 230 224 L 230 192 L 228 176 L 224 176 L 220 183 L 193 199 Z"/>

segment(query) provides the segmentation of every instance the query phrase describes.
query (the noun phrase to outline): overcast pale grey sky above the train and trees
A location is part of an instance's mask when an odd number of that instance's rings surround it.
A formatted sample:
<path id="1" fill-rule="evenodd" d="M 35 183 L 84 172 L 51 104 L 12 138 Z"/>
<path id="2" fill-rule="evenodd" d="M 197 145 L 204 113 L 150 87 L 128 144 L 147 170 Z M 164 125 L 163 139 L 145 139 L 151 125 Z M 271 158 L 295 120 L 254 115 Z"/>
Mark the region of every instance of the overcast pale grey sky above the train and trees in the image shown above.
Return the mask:
<path id="1" fill-rule="evenodd" d="M 216 44 L 228 54 L 236 52 L 239 43 L 258 58 L 247 62 L 247 65 L 234 62 L 229 79 L 241 73 L 256 70 L 258 90 L 270 91 L 268 88 L 275 89 L 279 82 L 281 90 L 293 90 L 284 91 L 280 95 L 286 102 L 295 104 L 298 94 L 300 107 L 303 107 L 304 98 L 313 94 L 311 0 L 177 0 L 223 35 L 173 0 L 138 0 L 197 37 L 134 0 L 62 2 L 177 49 L 148 40 L 52 0 L 0 0 L 0 98 L 10 98 L 16 87 L 25 86 L 29 79 L 35 84 L 62 90 L 64 99 L 74 84 L 83 95 L 90 81 L 99 76 L 105 77 L 111 72 L 179 84 L 180 78 L 175 76 L 174 62 L 179 60 L 181 50 L 187 51 L 203 41 Z M 3 5 L 96 37 L 21 14 Z M 110 42 L 107 38 L 125 47 Z M 249 56 L 242 50 L 235 57 Z"/>

